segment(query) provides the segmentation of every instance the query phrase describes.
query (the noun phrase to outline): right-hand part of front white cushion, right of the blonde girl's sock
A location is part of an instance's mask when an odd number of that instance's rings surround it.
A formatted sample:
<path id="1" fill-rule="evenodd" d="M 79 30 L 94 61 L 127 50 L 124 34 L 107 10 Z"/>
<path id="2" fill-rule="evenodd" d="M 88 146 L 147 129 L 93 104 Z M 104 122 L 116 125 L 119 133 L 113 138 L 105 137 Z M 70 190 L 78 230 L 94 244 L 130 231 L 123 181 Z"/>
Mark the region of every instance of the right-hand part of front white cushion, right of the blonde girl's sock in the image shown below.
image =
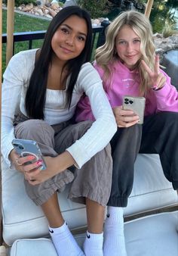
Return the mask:
<path id="1" fill-rule="evenodd" d="M 155 214 L 125 223 L 129 256 L 177 256 L 178 211 Z"/>

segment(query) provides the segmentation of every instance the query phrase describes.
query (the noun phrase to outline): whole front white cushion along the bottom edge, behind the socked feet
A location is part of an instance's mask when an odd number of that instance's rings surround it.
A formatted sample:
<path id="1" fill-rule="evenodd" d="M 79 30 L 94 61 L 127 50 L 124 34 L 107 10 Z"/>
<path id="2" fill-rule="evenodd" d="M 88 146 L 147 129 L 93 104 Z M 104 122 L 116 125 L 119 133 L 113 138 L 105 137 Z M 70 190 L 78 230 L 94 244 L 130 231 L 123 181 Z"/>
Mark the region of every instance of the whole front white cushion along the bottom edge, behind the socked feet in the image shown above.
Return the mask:
<path id="1" fill-rule="evenodd" d="M 178 212 L 155 214 L 124 224 L 129 256 L 177 256 Z M 84 234 L 75 236 L 78 245 Z M 119 251 L 118 251 L 119 254 Z M 22 239 L 14 242 L 11 256 L 57 256 L 50 239 Z"/>

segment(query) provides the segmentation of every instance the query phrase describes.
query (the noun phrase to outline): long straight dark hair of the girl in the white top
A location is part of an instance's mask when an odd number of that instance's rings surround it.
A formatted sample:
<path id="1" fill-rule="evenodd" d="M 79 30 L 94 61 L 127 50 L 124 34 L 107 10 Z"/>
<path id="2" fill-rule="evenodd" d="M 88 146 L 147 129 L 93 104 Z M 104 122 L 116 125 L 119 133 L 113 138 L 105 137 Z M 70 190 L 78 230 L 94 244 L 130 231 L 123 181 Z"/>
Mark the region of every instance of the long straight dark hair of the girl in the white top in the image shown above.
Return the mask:
<path id="1" fill-rule="evenodd" d="M 66 90 L 66 108 L 69 108 L 72 100 L 72 91 L 78 78 L 78 73 L 81 69 L 81 65 L 90 61 L 91 58 L 91 40 L 92 40 L 92 27 L 91 17 L 78 6 L 69 6 L 63 8 L 59 13 L 51 20 L 47 33 L 44 37 L 44 42 L 41 47 L 40 54 L 37 61 L 35 61 L 35 68 L 29 80 L 29 87 L 26 92 L 26 113 L 33 119 L 44 119 L 44 105 L 46 100 L 46 89 L 48 81 L 48 68 L 52 61 L 52 55 L 54 53 L 51 48 L 51 39 L 58 27 L 64 20 L 72 15 L 77 15 L 83 18 L 87 23 L 87 39 L 84 45 L 84 49 L 81 54 L 67 62 L 69 73 L 71 74 L 69 80 L 69 86 Z"/>

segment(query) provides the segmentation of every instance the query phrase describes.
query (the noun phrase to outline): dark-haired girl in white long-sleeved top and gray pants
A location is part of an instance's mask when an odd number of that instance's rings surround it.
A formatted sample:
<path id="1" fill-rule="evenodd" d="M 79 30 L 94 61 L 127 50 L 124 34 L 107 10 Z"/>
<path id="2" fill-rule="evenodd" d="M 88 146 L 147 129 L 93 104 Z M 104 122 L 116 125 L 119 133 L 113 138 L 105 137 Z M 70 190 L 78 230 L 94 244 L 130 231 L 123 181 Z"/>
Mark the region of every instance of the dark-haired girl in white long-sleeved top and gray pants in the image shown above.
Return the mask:
<path id="1" fill-rule="evenodd" d="M 89 14 L 76 6 L 64 8 L 51 21 L 42 47 L 14 55 L 4 73 L 2 155 L 9 167 L 24 174 L 26 192 L 44 211 L 60 256 L 103 256 L 104 209 L 112 182 L 108 143 L 116 123 L 100 76 L 88 62 L 91 39 Z M 83 93 L 90 98 L 96 121 L 73 124 Z M 45 170 L 32 155 L 17 155 L 11 145 L 15 137 L 38 142 Z M 57 200 L 57 192 L 67 183 L 69 198 L 86 204 L 84 252 Z"/>

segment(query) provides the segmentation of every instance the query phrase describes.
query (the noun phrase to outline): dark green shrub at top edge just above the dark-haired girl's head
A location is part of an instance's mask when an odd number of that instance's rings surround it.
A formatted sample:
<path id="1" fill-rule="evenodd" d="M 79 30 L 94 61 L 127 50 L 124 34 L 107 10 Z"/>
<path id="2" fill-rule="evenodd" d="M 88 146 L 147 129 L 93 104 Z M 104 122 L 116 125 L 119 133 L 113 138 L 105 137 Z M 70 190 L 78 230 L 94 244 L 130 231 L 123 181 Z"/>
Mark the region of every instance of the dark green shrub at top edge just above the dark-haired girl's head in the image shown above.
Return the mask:
<path id="1" fill-rule="evenodd" d="M 106 8 L 107 0 L 76 0 L 77 5 L 87 10 L 92 18 L 100 17 Z"/>

